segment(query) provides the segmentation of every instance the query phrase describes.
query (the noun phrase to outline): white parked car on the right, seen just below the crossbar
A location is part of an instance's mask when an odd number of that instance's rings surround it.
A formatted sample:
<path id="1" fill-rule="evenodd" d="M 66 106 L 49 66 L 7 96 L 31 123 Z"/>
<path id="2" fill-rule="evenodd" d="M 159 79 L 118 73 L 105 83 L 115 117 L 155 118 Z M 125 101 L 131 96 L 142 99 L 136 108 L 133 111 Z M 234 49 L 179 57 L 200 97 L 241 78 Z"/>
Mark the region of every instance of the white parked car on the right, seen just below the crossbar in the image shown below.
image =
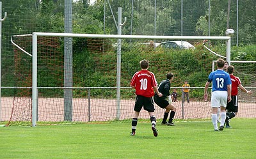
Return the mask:
<path id="1" fill-rule="evenodd" d="M 195 47 L 186 41 L 170 41 L 162 42 L 158 47 L 163 47 L 164 49 L 195 49 Z"/>

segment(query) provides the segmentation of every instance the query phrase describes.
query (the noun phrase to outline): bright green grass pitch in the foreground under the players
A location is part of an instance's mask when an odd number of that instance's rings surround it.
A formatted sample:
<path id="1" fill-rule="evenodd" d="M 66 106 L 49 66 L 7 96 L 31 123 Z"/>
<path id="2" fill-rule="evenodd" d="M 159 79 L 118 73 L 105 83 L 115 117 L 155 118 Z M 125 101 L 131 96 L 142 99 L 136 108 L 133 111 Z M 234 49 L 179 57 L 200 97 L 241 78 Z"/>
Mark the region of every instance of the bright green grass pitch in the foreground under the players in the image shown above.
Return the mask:
<path id="1" fill-rule="evenodd" d="M 159 121 L 158 121 L 159 122 Z M 160 122 L 159 122 L 160 123 Z M 0 127 L 0 158 L 256 158 L 256 119 L 232 119 L 214 132 L 211 121 Z"/>

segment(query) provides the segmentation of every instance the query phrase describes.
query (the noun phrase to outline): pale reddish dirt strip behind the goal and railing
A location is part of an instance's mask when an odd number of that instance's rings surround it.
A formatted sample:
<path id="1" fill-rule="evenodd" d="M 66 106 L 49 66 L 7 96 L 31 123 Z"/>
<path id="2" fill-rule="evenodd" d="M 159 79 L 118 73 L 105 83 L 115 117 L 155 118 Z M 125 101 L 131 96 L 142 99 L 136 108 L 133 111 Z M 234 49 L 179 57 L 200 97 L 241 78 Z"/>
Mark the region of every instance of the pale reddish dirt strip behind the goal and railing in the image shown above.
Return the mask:
<path id="1" fill-rule="evenodd" d="M 13 104 L 14 103 L 14 104 Z M 116 107 L 116 99 L 73 99 L 72 121 L 111 121 L 115 119 L 131 119 L 133 116 L 134 100 L 121 100 L 120 107 Z M 63 98 L 38 98 L 38 121 L 64 121 Z M 174 102 L 177 108 L 176 119 L 210 119 L 211 103 L 191 101 L 190 103 Z M 163 118 L 164 109 L 156 107 L 157 119 Z M 12 109 L 13 108 L 13 109 Z M 68 110 L 68 109 L 67 109 Z M 12 116 L 11 116 L 12 115 Z M 67 114 L 66 114 L 67 116 Z M 256 117 L 256 104 L 252 102 L 239 102 L 236 117 Z M 0 121 L 29 121 L 31 119 L 31 98 L 1 97 Z M 149 119 L 148 113 L 141 110 L 140 118 Z"/>

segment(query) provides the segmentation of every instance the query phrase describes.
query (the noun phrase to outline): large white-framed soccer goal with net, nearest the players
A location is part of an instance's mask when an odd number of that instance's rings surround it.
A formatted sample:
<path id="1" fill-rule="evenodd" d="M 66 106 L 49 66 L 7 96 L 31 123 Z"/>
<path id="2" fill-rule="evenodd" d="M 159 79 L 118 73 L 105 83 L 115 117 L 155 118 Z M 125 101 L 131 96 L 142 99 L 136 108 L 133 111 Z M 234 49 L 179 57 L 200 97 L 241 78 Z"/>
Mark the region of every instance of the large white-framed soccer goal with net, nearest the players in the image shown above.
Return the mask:
<path id="1" fill-rule="evenodd" d="M 217 59 L 202 48 L 202 40 L 216 40 L 230 61 L 229 36 L 140 36 L 72 33 L 33 33 L 12 36 L 13 95 L 1 98 L 1 121 L 7 125 L 51 125 L 130 121 L 134 107 L 132 75 L 139 61 L 148 59 L 157 82 L 173 72 L 177 88 L 175 119 L 210 119 L 204 84 Z M 141 45 L 188 41 L 195 49 L 166 49 Z M 154 46 L 154 45 L 153 45 Z M 184 80 L 191 84 L 189 105 L 181 103 Z M 202 106 L 203 105 L 203 106 Z M 203 109 L 203 110 L 202 110 Z M 200 110 L 200 111 L 198 111 Z M 163 109 L 156 105 L 157 118 Z M 4 114 L 3 114 L 4 113 Z M 148 119 L 144 110 L 141 119 Z M 25 123 L 25 124 L 24 124 Z"/>

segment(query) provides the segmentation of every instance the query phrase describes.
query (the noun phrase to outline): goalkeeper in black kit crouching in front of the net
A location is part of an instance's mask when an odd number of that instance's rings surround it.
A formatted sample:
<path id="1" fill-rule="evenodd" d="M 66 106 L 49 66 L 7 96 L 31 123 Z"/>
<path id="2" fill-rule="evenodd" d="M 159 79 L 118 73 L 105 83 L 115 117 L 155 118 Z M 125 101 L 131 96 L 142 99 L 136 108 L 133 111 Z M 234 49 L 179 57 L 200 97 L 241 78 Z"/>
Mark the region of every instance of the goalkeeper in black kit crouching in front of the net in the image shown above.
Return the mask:
<path id="1" fill-rule="evenodd" d="M 175 116 L 176 112 L 176 107 L 172 105 L 172 97 L 170 95 L 170 86 L 171 82 L 173 80 L 173 73 L 167 73 L 166 75 L 166 80 L 163 80 L 159 86 L 158 86 L 158 91 L 163 94 L 163 96 L 159 97 L 158 95 L 154 95 L 154 102 L 161 108 L 166 109 L 164 112 L 164 118 L 162 121 L 162 125 L 168 125 L 168 126 L 174 126 L 173 124 L 173 117 Z M 168 100 L 166 98 L 168 97 Z M 169 112 L 170 113 L 170 118 L 169 121 L 166 122 Z"/>

